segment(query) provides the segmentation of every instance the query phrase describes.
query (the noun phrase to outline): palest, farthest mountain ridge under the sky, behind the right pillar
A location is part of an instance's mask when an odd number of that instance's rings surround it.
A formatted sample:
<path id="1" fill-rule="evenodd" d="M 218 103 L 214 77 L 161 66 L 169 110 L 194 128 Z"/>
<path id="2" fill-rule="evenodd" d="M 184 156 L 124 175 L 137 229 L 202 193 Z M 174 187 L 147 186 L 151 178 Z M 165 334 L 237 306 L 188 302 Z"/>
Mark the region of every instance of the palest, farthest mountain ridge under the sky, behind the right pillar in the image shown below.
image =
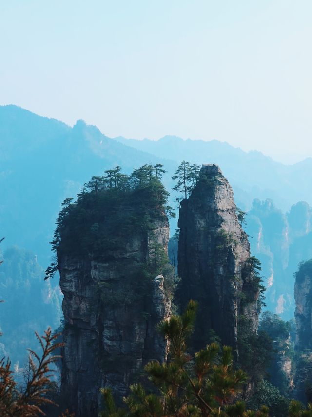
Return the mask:
<path id="1" fill-rule="evenodd" d="M 217 140 L 183 140 L 177 136 L 164 136 L 157 141 L 115 139 L 156 156 L 168 154 L 170 159 L 178 163 L 183 159 L 197 164 L 216 163 L 222 168 L 234 191 L 239 189 L 238 195 L 234 195 L 236 200 L 244 200 L 245 208 L 251 206 L 246 193 L 253 195 L 253 198 L 271 198 L 284 211 L 297 201 L 304 200 L 312 204 L 312 195 L 308 192 L 312 181 L 312 158 L 293 165 L 283 165 L 259 151 L 245 152 Z"/>

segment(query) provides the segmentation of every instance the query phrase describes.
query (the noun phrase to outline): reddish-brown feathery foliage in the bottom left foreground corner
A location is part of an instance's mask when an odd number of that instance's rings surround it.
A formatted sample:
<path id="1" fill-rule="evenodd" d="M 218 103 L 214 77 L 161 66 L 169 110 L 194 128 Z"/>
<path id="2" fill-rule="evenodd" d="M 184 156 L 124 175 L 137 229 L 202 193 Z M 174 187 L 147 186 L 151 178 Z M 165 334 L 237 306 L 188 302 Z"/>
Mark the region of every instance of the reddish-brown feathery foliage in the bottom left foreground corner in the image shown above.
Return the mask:
<path id="1" fill-rule="evenodd" d="M 55 343 L 59 334 L 52 334 L 48 328 L 43 336 L 36 333 L 42 354 L 39 356 L 35 351 L 30 352 L 31 373 L 25 388 L 20 391 L 14 380 L 14 372 L 11 370 L 11 362 L 3 358 L 0 360 L 0 416 L 1 417 L 33 417 L 45 415 L 42 406 L 54 404 L 46 397 L 52 391 L 51 380 L 53 370 L 51 364 L 55 363 L 58 355 L 53 352 L 62 346 Z"/>

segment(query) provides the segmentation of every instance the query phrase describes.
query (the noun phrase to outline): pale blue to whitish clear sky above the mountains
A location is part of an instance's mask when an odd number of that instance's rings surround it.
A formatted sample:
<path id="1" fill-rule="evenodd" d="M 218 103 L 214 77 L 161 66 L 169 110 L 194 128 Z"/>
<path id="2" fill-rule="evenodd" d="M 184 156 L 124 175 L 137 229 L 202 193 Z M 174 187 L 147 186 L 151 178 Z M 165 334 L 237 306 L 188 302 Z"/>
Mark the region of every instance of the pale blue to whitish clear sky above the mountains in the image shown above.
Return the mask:
<path id="1" fill-rule="evenodd" d="M 0 104 L 312 157 L 311 0 L 0 0 Z"/>

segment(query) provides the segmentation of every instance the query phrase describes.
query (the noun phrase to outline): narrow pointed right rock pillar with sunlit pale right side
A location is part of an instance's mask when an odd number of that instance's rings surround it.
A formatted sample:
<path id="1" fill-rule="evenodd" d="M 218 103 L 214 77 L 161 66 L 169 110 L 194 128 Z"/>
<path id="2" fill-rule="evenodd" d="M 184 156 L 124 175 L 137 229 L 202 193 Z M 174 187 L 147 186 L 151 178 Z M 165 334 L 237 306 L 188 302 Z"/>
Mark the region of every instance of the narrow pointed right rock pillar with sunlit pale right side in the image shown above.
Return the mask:
<path id="1" fill-rule="evenodd" d="M 237 351 L 239 317 L 258 326 L 258 289 L 248 267 L 249 242 L 236 215 L 233 191 L 220 168 L 203 165 L 191 196 L 181 202 L 178 273 L 182 304 L 198 300 L 195 349 L 215 330 Z M 248 272 L 249 271 L 249 272 Z"/>

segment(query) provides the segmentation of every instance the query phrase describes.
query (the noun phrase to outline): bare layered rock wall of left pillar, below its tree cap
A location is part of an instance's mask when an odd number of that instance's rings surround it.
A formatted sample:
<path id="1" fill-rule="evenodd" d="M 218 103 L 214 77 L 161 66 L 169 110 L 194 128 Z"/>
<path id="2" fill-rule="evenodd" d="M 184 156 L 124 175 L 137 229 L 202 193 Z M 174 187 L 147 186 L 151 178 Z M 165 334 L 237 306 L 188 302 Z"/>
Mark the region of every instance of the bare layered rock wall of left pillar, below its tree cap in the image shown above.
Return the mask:
<path id="1" fill-rule="evenodd" d="M 160 210 L 148 232 L 137 229 L 129 236 L 121 225 L 118 233 L 123 249 L 100 256 L 58 252 L 66 323 L 62 392 L 77 416 L 98 415 L 100 387 L 111 387 L 121 398 L 142 365 L 166 356 L 155 329 L 171 312 L 164 278 L 146 284 L 140 270 L 155 247 L 167 251 L 168 219 Z"/>

